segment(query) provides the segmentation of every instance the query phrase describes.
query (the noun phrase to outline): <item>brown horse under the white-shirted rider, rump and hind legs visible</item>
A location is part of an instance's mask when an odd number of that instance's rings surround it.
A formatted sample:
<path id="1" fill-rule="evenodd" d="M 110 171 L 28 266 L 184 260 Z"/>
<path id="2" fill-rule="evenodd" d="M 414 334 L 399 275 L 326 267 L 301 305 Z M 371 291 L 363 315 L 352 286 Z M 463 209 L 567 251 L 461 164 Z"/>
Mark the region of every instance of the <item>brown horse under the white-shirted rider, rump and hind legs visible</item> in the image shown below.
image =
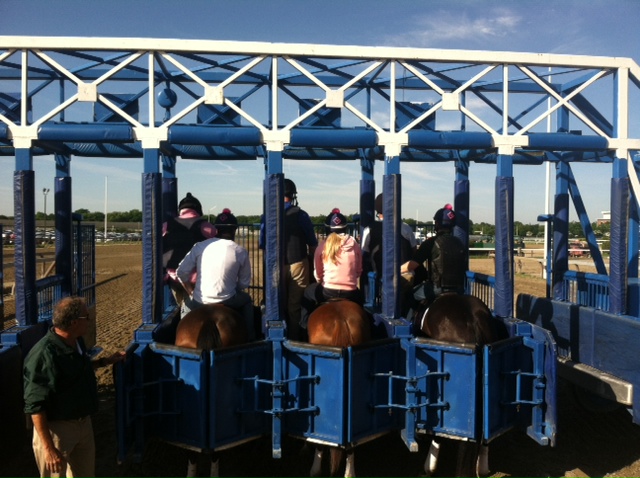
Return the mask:
<path id="1" fill-rule="evenodd" d="M 191 310 L 180 320 L 175 345 L 210 351 L 245 344 L 248 338 L 247 324 L 239 312 L 222 304 L 206 304 Z M 189 452 L 187 478 L 197 475 L 198 455 Z M 210 477 L 219 476 L 219 460 L 212 453 Z"/>

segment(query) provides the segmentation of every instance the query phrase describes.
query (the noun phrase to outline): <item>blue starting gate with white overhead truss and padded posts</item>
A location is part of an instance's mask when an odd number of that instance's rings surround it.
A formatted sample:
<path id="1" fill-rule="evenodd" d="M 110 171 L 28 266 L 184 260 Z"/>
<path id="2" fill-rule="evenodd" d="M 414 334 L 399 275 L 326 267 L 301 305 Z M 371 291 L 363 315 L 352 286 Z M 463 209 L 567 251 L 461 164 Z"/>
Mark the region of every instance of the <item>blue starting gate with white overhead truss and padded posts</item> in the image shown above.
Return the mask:
<path id="1" fill-rule="evenodd" d="M 565 81 L 547 78 L 550 67 L 554 78 Z M 613 119 L 586 93 L 603 78 L 612 80 Z M 24 353 L 43 333 L 36 320 L 33 155 L 54 155 L 56 161 L 56 261 L 62 268 L 56 298 L 73 292 L 71 157 L 135 157 L 142 158 L 143 169 L 143 303 L 127 360 L 116 366 L 121 457 L 132 445 L 141 453 L 150 436 L 219 450 L 271 434 L 276 458 L 283 454 L 284 435 L 349 446 L 402 430 L 408 448 L 417 451 L 420 433 L 487 442 L 521 426 L 539 443 L 552 445 L 555 341 L 563 360 L 576 365 L 572 370 L 582 364 L 599 368 L 603 376 L 625 381 L 629 397 L 640 384 L 637 359 L 603 356 L 611 351 L 606 340 L 630 343 L 638 324 L 638 181 L 632 153 L 640 139 L 630 134 L 628 122 L 629 89 L 638 85 L 640 69 L 624 58 L 0 37 L 0 154 L 14 156 L 16 164 L 16 303 L 22 327 L 19 334 L 2 334 L 0 376 L 15 376 L 21 366 L 12 345 L 20 344 Z M 58 98 L 53 107 L 51 90 Z M 438 121 L 451 114 L 459 121 L 453 131 Z M 540 131 L 552 115 L 557 131 Z M 213 352 L 172 345 L 178 317 L 162 281 L 160 237 L 164 220 L 177 213 L 178 158 L 264 161 L 263 341 Z M 370 290 L 368 304 L 385 339 L 347 350 L 287 339 L 284 160 L 357 161 L 362 227 L 374 220 L 374 169 L 384 165 L 383 267 L 379 297 L 372 298 Z M 571 162 L 578 161 L 613 164 L 608 276 L 571 171 Z M 399 313 L 401 169 L 434 162 L 454 166 L 456 235 L 467 245 L 470 165 L 496 168 L 495 277 L 470 272 L 468 291 L 489 302 L 510 338 L 481 350 L 413 338 Z M 546 218 L 554 226 L 553 297 L 520 297 L 516 310 L 513 168 L 544 162 L 557 173 L 556 210 Z M 568 271 L 569 194 L 598 267 L 595 278 Z M 589 280 L 606 287 L 591 293 Z M 373 279 L 373 289 L 378 282 Z M 606 298 L 608 310 L 582 303 L 583 297 Z M 3 384 L 0 400 L 19 395 L 14 382 Z M 626 403 L 636 421 L 638 396 Z M 479 403 L 484 409 L 476 415 Z"/>

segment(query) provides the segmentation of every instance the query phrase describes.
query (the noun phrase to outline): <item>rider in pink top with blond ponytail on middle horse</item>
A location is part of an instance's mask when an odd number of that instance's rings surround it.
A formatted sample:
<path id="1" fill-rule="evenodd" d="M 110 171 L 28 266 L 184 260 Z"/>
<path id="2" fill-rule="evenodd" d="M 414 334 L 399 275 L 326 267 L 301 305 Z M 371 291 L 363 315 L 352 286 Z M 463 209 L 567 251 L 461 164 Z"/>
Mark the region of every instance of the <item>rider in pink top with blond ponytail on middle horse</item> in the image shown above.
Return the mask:
<path id="1" fill-rule="evenodd" d="M 362 274 L 362 252 L 356 240 L 347 231 L 347 218 L 339 209 L 327 216 L 326 228 L 331 231 L 314 254 L 314 276 L 317 282 L 309 284 L 301 301 L 300 326 L 307 328 L 309 314 L 322 302 L 344 298 L 362 305 L 358 289 Z"/>

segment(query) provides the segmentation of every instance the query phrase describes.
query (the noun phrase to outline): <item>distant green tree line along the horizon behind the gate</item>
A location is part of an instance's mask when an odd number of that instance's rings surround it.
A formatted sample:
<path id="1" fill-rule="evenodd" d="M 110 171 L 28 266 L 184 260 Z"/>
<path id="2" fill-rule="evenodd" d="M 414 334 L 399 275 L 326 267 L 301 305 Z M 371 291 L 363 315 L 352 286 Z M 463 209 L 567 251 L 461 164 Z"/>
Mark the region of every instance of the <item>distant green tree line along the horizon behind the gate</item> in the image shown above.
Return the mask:
<path id="1" fill-rule="evenodd" d="M 81 215 L 83 221 L 104 222 L 104 212 L 98 212 L 98 211 L 91 212 L 88 209 L 77 209 L 76 211 L 74 211 L 74 213 Z M 205 214 L 205 216 L 208 216 L 208 215 Z M 345 214 L 345 216 L 349 222 L 353 222 L 354 216 L 357 216 L 357 215 Z M 215 220 L 215 216 L 208 216 L 208 217 L 210 217 L 210 220 L 212 222 Z M 240 224 L 257 224 L 260 222 L 259 214 L 249 215 L 249 216 L 239 215 L 236 217 L 238 218 L 238 222 Z M 45 218 L 44 213 L 37 212 L 35 218 L 37 221 L 43 221 L 45 219 L 47 221 L 53 221 L 55 219 L 55 214 L 54 213 L 47 214 Z M 13 219 L 13 217 L 0 215 L 0 219 L 11 220 Z M 314 224 L 323 224 L 325 219 L 326 219 L 326 216 L 324 215 L 311 216 L 311 221 Z M 403 219 L 403 221 L 409 224 L 412 228 L 428 227 L 433 224 L 432 221 L 425 221 L 425 222 L 420 221 L 416 223 L 415 219 L 410 219 L 410 218 Z M 130 211 L 109 212 L 107 213 L 107 222 L 141 223 L 142 211 L 140 211 L 139 209 L 132 209 Z M 593 228 L 594 233 L 598 237 L 607 236 L 611 229 L 609 223 L 603 223 L 603 224 L 593 223 L 591 224 L 591 227 Z M 496 228 L 495 228 L 495 225 L 493 224 L 489 224 L 486 222 L 474 223 L 473 221 L 469 221 L 470 234 L 494 236 L 495 230 Z M 541 237 L 542 235 L 544 235 L 544 224 L 543 223 L 523 224 L 520 221 L 515 221 L 514 234 L 520 237 Z M 582 231 L 582 226 L 580 222 L 573 221 L 569 223 L 569 234 L 571 234 L 572 237 L 584 237 L 584 232 Z"/>

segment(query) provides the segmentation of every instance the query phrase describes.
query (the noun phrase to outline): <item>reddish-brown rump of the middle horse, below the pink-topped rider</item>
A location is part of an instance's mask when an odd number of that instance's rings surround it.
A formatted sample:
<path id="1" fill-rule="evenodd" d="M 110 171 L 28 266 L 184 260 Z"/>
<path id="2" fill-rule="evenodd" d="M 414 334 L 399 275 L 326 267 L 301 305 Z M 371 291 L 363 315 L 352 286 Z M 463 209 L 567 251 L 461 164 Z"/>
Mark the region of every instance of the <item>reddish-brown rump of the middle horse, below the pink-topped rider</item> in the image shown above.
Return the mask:
<path id="1" fill-rule="evenodd" d="M 349 347 L 371 340 L 371 321 L 359 304 L 332 300 L 311 313 L 307 331 L 312 344 Z"/>

